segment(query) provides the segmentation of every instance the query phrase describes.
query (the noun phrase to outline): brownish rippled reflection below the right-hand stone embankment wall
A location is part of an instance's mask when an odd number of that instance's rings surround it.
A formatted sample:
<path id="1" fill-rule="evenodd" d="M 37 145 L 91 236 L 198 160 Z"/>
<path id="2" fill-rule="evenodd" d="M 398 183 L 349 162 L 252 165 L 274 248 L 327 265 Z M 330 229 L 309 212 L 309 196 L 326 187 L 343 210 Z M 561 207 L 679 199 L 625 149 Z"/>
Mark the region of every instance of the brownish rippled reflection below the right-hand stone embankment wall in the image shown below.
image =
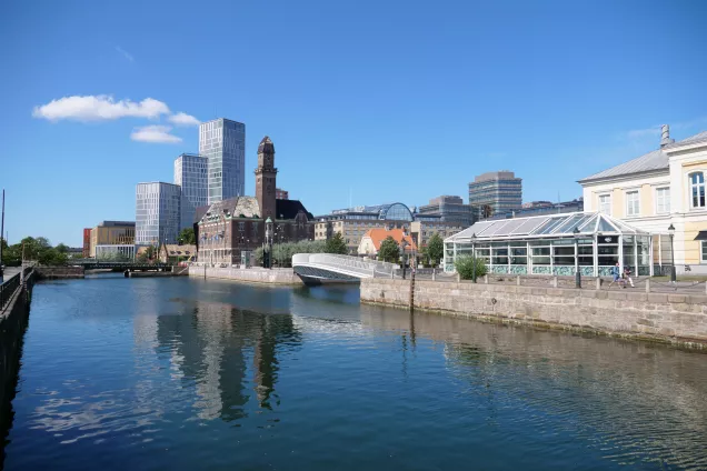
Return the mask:
<path id="1" fill-rule="evenodd" d="M 570 433 L 621 464 L 707 469 L 707 354 L 375 308 L 361 321 L 400 331 L 404 349 L 408 337 L 441 342 L 489 423 L 520 401 L 515 427 Z"/>

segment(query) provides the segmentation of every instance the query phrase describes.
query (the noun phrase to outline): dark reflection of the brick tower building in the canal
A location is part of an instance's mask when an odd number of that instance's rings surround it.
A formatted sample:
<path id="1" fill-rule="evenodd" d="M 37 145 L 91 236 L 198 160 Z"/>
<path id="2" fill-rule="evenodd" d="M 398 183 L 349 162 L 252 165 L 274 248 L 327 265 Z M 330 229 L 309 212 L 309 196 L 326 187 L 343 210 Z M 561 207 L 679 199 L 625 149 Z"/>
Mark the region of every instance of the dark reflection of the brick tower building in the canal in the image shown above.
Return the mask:
<path id="1" fill-rule="evenodd" d="M 191 302 L 189 302 L 191 304 Z M 248 359 L 252 349 L 258 405 L 271 408 L 277 381 L 277 345 L 297 345 L 290 315 L 241 311 L 230 304 L 199 302 L 181 315 L 159 318 L 159 343 L 175 347 L 181 381 L 195 384 L 201 419 L 238 420 L 247 414 Z"/>

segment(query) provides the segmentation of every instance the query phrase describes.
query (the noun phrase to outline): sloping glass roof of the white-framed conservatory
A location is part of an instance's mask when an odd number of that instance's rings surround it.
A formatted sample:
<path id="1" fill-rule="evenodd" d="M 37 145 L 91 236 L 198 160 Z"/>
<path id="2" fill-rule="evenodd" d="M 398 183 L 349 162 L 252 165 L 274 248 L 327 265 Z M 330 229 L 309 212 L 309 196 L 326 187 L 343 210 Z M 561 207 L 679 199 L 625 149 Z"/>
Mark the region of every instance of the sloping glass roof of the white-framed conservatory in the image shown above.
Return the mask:
<path id="1" fill-rule="evenodd" d="M 575 232 L 577 229 L 578 232 Z M 649 236 L 626 222 L 599 212 L 569 212 L 535 216 L 531 218 L 480 221 L 468 229 L 445 239 L 445 242 L 468 242 L 508 239 L 557 239 L 576 234 Z"/>

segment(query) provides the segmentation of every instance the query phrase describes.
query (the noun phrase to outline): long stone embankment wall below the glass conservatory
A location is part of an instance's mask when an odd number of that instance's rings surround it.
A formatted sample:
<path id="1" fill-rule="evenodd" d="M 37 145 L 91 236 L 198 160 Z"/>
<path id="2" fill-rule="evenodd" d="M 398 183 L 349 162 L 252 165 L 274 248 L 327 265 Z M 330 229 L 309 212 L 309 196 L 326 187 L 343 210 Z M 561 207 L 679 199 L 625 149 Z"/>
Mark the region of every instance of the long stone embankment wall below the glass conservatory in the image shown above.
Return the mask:
<path id="1" fill-rule="evenodd" d="M 362 302 L 409 307 L 409 280 L 361 280 Z M 707 295 L 415 283 L 415 308 L 707 348 Z"/>

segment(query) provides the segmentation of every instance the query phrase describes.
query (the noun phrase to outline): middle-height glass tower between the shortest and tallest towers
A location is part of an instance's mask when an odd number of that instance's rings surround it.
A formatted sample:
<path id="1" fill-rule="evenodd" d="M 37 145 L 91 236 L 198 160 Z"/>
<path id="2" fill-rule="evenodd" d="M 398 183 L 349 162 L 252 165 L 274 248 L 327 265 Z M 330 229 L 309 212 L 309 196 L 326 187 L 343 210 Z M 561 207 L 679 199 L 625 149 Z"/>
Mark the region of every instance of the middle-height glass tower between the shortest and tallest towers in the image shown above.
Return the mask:
<path id="1" fill-rule="evenodd" d="M 179 229 L 191 228 L 197 208 L 208 204 L 208 159 L 182 153 L 175 160 L 175 184 L 181 187 Z"/>

